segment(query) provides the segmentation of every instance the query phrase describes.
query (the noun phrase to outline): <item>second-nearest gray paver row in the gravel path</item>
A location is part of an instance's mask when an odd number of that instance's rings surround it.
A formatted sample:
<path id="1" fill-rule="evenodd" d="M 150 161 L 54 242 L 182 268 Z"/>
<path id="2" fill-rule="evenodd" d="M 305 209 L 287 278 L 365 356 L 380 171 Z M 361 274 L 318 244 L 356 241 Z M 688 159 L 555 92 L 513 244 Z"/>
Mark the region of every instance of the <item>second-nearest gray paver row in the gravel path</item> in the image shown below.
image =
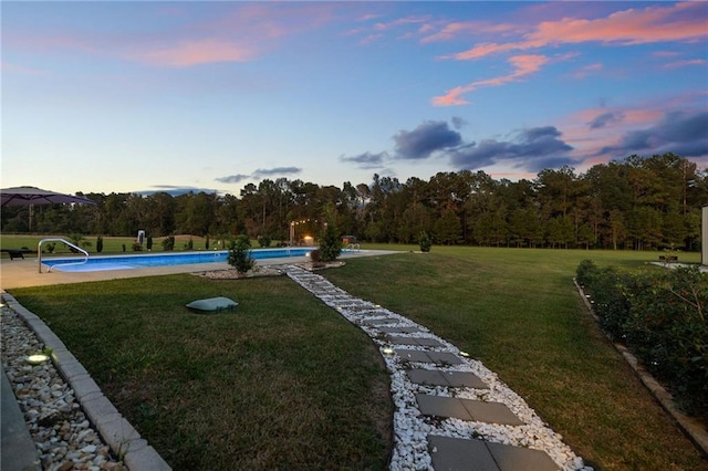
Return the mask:
<path id="1" fill-rule="evenodd" d="M 416 395 L 420 412 L 426 416 L 454 417 L 473 422 L 502 423 L 521 426 L 507 406 L 501 402 L 483 402 L 481 400 L 459 399 L 456 397 Z"/>

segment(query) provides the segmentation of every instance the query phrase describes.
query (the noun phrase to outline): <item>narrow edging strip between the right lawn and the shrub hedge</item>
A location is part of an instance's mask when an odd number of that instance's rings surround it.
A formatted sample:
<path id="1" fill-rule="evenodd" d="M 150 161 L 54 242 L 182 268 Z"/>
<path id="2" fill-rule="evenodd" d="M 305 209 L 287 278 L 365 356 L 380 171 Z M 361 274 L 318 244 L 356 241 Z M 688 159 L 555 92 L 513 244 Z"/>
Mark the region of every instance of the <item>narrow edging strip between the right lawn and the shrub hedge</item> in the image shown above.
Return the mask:
<path id="1" fill-rule="evenodd" d="M 587 296 L 583 291 L 582 286 L 577 284 L 577 281 L 573 279 L 573 283 L 575 283 L 575 287 L 577 287 L 577 292 L 580 293 L 581 299 L 585 303 L 587 307 L 587 312 L 593 316 L 595 322 L 600 324 L 600 317 L 595 314 L 593 310 L 593 305 L 587 301 Z M 604 332 L 604 331 L 603 331 Z M 606 334 L 605 334 L 606 335 Z M 708 431 L 704 428 L 702 423 L 697 419 L 689 417 L 680 411 L 676 402 L 674 401 L 674 396 L 669 391 L 667 391 L 655 378 L 649 374 L 649 371 L 644 368 L 644 366 L 637 360 L 637 358 L 627 349 L 626 346 L 614 342 L 606 335 L 607 339 L 612 345 L 620 352 L 620 354 L 624 357 L 624 359 L 629 364 L 632 369 L 639 377 L 642 384 L 652 393 L 657 402 L 666 410 L 678 423 L 679 428 L 684 430 L 684 432 L 688 436 L 688 438 L 694 442 L 696 448 L 701 451 L 706 457 L 708 457 Z"/>

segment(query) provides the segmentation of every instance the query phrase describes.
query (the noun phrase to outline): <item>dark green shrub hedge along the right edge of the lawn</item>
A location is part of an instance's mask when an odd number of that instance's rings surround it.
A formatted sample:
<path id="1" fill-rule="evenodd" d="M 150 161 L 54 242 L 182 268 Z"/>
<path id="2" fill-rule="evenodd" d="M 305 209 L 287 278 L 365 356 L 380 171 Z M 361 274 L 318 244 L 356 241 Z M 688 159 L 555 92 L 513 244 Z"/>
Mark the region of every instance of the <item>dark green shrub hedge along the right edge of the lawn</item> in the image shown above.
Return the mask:
<path id="1" fill-rule="evenodd" d="M 693 415 L 708 417 L 708 274 L 627 271 L 584 260 L 577 282 L 610 337 L 629 348 Z"/>

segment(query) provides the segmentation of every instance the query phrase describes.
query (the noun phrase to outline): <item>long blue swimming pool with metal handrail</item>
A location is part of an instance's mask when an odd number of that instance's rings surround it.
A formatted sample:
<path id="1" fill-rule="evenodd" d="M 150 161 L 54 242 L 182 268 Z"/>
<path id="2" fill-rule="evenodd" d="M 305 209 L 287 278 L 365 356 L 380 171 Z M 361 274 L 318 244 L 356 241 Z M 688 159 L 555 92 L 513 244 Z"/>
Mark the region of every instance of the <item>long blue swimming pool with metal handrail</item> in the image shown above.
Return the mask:
<path id="1" fill-rule="evenodd" d="M 280 259 L 288 257 L 305 257 L 315 248 L 298 249 L 258 249 L 251 250 L 253 260 Z M 196 263 L 226 262 L 228 250 L 214 252 L 153 253 L 139 255 L 93 257 L 84 263 L 83 259 L 58 258 L 42 259 L 42 264 L 61 272 L 96 272 L 104 270 L 134 270 L 155 266 L 191 265 Z"/>

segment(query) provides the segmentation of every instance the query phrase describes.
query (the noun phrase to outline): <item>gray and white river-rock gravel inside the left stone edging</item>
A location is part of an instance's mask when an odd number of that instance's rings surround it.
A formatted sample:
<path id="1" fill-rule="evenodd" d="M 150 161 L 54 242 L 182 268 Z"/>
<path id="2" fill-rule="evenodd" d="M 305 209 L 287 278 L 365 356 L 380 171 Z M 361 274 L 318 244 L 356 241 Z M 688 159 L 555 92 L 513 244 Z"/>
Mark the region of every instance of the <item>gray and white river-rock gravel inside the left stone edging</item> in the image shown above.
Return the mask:
<path id="1" fill-rule="evenodd" d="M 3 303 L 4 304 L 4 303 Z M 91 425 L 74 390 L 51 359 L 30 365 L 28 356 L 44 345 L 7 305 L 2 306 L 2 367 L 18 399 L 30 436 L 50 471 L 124 471 Z"/>

